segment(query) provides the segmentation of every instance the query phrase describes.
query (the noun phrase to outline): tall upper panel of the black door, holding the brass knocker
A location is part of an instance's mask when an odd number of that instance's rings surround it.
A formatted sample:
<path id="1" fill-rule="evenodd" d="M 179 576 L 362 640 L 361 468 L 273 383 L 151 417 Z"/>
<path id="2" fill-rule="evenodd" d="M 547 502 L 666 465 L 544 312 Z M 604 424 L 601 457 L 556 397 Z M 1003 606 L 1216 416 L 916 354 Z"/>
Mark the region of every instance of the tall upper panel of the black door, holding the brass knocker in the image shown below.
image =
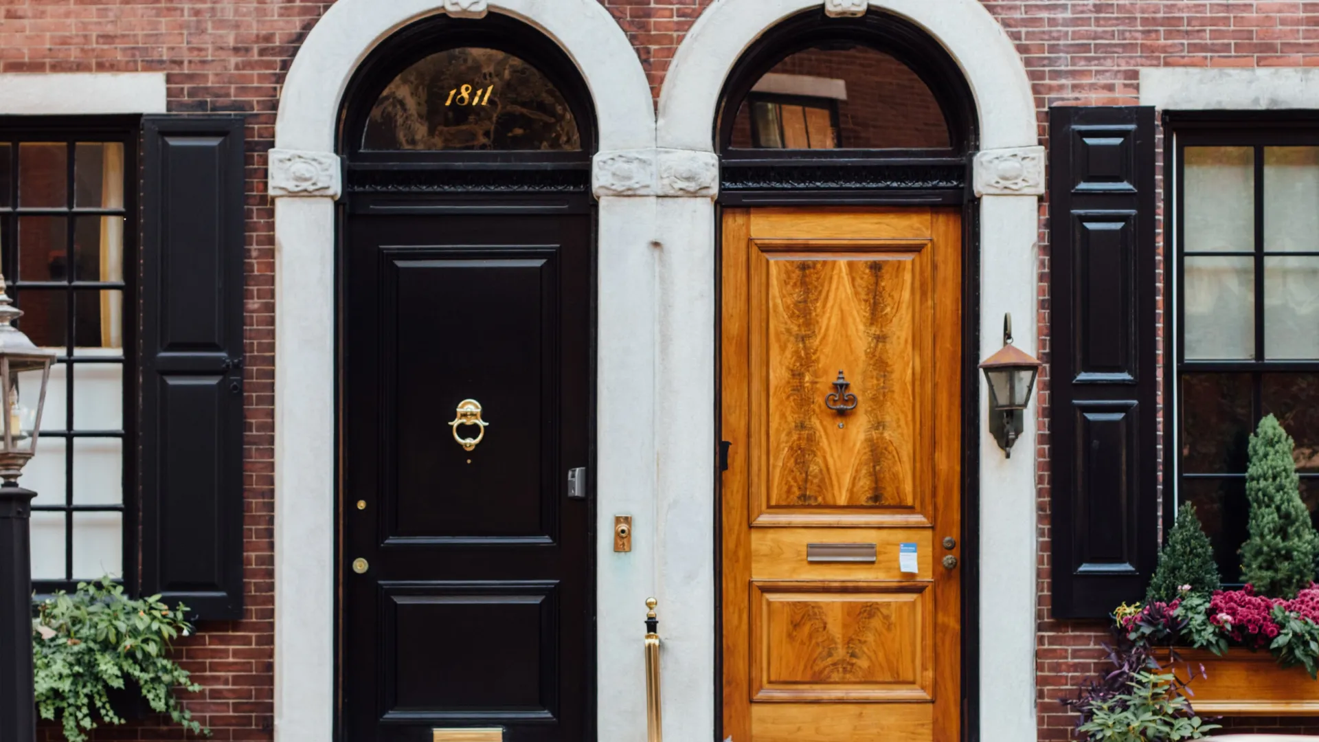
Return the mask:
<path id="1" fill-rule="evenodd" d="M 386 544 L 553 541 L 555 248 L 384 250 Z M 437 342 L 442 339 L 442 342 Z M 474 399 L 485 426 L 451 425 Z"/>

